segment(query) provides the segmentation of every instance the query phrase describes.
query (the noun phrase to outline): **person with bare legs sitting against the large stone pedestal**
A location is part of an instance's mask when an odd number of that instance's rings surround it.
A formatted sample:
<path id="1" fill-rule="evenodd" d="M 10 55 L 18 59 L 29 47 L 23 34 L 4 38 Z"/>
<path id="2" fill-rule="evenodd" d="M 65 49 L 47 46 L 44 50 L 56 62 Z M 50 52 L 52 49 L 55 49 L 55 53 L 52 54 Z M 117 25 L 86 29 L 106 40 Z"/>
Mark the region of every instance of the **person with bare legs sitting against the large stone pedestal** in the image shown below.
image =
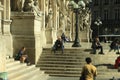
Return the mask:
<path id="1" fill-rule="evenodd" d="M 21 63 L 27 63 L 28 65 L 30 64 L 29 60 L 28 60 L 28 55 L 25 54 L 25 47 L 22 47 L 18 54 L 15 57 L 15 60 L 20 60 Z"/>

